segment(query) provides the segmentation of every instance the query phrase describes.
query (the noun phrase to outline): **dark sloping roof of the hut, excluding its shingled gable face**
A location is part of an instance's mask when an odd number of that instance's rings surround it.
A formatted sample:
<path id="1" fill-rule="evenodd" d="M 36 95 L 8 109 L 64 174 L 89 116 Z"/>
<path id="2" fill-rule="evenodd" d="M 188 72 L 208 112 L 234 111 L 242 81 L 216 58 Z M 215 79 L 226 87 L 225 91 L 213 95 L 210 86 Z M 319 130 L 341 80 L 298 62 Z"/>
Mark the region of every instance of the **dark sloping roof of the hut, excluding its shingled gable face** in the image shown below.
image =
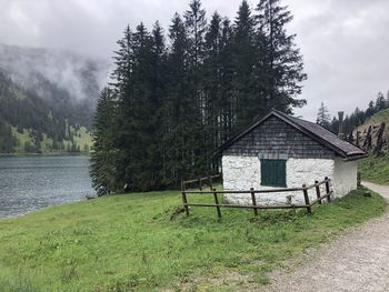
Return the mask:
<path id="1" fill-rule="evenodd" d="M 229 141 L 227 141 L 225 144 L 222 144 L 219 149 L 215 151 L 215 154 L 218 154 L 222 152 L 223 150 L 228 149 L 231 144 L 233 144 L 236 141 L 240 140 L 246 134 L 250 133 L 255 128 L 257 128 L 259 124 L 261 124 L 263 121 L 269 119 L 270 117 L 276 115 L 277 118 L 281 119 L 282 121 L 289 123 L 290 125 L 295 127 L 299 131 L 303 132 L 305 134 L 309 135 L 311 139 L 318 141 L 322 145 L 331 149 L 333 152 L 339 154 L 340 157 L 347 159 L 347 160 L 355 160 L 366 157 L 366 152 L 361 150 L 360 148 L 340 139 L 338 135 L 331 133 L 327 129 L 322 128 L 321 125 L 317 123 L 312 123 L 309 121 L 305 121 L 295 117 L 290 117 L 283 112 L 272 110 L 268 115 L 266 115 L 260 121 L 253 123 L 250 125 L 247 130 L 243 132 L 232 137 Z"/>

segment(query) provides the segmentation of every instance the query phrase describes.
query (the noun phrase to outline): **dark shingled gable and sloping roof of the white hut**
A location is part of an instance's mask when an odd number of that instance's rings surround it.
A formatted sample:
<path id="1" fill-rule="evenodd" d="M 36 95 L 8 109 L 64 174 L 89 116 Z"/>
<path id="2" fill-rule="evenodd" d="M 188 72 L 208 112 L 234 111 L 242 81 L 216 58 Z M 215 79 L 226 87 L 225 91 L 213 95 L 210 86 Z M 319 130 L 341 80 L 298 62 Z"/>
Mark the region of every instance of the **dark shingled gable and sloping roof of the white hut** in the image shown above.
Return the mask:
<path id="1" fill-rule="evenodd" d="M 263 159 L 333 159 L 355 160 L 366 155 L 358 147 L 339 139 L 325 128 L 279 111 L 222 144 L 216 153 L 227 155 L 262 155 Z"/>

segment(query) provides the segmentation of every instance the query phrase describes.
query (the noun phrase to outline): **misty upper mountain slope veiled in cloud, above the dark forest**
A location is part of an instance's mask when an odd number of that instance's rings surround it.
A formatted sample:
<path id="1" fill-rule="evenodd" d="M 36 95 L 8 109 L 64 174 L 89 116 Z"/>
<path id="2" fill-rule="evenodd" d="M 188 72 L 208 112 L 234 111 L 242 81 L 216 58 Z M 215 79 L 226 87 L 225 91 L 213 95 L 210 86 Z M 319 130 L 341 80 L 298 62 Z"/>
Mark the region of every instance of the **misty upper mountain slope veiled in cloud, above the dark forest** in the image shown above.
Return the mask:
<path id="1" fill-rule="evenodd" d="M 62 110 L 70 122 L 89 127 L 109 62 L 69 51 L 0 44 L 0 69 L 19 87 Z"/>

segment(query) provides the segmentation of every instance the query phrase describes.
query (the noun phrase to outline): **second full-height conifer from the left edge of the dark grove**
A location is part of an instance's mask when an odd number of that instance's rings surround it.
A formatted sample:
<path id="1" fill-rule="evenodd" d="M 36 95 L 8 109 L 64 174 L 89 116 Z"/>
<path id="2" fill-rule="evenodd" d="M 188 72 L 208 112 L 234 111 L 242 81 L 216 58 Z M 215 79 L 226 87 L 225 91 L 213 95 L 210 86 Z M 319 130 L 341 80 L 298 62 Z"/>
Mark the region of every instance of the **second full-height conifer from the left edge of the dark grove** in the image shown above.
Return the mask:
<path id="1" fill-rule="evenodd" d="M 137 27 L 132 36 L 133 69 L 128 97 L 131 103 L 123 108 L 127 123 L 123 138 L 127 141 L 122 151 L 126 153 L 124 178 L 128 185 L 136 190 L 154 188 L 154 160 L 150 152 L 156 150 L 156 125 L 152 118 L 156 114 L 156 94 L 158 90 L 152 84 L 153 48 L 152 37 L 143 23 Z"/>

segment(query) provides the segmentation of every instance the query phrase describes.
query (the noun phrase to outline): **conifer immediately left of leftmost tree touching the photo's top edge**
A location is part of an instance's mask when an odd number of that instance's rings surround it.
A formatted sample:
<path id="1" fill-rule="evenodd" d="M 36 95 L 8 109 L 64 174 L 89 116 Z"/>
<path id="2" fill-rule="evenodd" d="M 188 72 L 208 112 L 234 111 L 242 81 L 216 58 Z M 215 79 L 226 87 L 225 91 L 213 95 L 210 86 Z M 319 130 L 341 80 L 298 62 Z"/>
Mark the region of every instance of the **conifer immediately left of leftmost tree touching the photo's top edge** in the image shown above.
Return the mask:
<path id="1" fill-rule="evenodd" d="M 189 81 L 189 40 L 181 17 L 176 13 L 169 28 L 171 43 L 167 60 L 168 93 L 163 103 L 163 181 L 174 184 L 189 177 L 193 153 L 193 121 L 197 119 L 192 83 Z"/>

